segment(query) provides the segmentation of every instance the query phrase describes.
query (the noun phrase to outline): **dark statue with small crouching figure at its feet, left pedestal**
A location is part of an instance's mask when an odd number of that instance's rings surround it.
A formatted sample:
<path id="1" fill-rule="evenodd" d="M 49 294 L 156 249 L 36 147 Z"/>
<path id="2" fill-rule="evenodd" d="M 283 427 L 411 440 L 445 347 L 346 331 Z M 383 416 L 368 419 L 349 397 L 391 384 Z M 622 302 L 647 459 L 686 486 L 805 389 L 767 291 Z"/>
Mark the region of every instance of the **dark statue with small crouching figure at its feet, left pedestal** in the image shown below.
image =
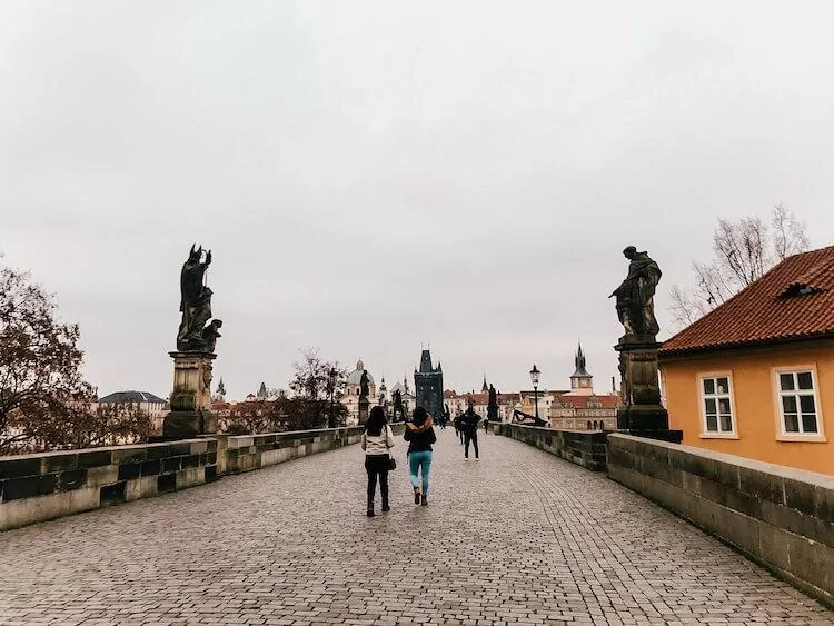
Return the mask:
<path id="1" fill-rule="evenodd" d="M 211 319 L 211 289 L 205 284 L 206 270 L 211 265 L 211 250 L 205 252 L 202 246 L 188 254 L 180 272 L 180 305 L 182 320 L 177 332 L 177 349 L 180 351 L 214 352 L 218 328 L 222 326 L 219 319 L 209 326 Z"/>

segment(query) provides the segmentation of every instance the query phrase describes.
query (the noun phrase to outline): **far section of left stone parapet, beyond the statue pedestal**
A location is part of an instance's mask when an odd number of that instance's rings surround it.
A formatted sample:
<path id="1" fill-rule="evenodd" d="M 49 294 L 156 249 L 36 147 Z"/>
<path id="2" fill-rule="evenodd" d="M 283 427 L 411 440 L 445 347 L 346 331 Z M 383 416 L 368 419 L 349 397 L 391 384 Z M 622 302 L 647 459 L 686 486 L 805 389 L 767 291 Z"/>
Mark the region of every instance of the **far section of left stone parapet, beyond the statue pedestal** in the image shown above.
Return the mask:
<path id="1" fill-rule="evenodd" d="M 403 433 L 404 424 L 391 426 L 395 435 Z M 217 437 L 220 450 L 220 473 L 239 474 L 269 467 L 344 446 L 358 444 L 364 427 L 327 428 L 320 430 L 295 430 L 291 433 L 267 433 Z"/>

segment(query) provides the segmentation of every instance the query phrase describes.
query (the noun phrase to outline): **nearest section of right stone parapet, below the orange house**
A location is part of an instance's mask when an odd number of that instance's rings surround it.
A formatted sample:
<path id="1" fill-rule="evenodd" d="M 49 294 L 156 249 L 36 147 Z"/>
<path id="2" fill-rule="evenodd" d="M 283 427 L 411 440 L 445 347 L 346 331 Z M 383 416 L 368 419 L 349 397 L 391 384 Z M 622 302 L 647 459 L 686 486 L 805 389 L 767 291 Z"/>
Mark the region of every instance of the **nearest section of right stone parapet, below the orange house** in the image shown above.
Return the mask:
<path id="1" fill-rule="evenodd" d="M 834 476 L 618 434 L 608 476 L 834 605 Z"/>

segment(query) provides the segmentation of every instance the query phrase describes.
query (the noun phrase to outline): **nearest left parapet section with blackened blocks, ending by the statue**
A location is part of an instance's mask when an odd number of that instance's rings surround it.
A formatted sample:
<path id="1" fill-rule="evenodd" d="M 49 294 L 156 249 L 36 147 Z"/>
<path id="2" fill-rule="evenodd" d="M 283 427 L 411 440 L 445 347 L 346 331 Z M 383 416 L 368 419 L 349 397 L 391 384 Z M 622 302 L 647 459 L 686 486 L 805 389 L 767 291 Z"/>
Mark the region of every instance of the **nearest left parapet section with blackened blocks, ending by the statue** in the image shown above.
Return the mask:
<path id="1" fill-rule="evenodd" d="M 217 478 L 217 441 L 89 448 L 0 458 L 0 530 Z"/>

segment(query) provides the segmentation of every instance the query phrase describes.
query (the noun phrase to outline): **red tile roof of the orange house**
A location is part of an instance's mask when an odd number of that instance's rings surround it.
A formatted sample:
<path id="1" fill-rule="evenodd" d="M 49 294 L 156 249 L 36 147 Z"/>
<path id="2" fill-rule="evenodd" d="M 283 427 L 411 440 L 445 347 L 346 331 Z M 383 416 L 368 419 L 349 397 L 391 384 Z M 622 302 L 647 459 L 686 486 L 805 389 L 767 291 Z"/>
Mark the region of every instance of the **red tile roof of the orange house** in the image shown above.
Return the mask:
<path id="1" fill-rule="evenodd" d="M 834 246 L 786 258 L 663 345 L 661 356 L 834 336 Z"/>

